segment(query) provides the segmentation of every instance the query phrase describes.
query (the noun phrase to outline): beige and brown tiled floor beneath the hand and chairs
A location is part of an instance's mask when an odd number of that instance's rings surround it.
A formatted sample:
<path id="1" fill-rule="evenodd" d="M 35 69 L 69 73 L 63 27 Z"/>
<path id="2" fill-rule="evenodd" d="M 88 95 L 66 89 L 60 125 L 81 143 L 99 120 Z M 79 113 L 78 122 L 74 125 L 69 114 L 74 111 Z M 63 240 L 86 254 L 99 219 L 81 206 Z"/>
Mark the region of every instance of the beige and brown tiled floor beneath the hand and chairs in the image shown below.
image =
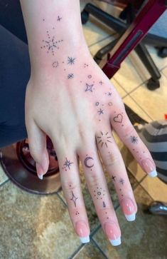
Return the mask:
<path id="1" fill-rule="evenodd" d="M 92 18 L 83 29 L 92 55 L 115 36 L 114 31 Z M 156 50 L 151 47 L 149 52 L 161 71 L 161 88 L 156 91 L 146 88 L 149 74 L 134 52 L 126 58 L 112 78 L 112 83 L 124 103 L 146 121 L 153 121 L 164 118 L 167 113 L 167 59 L 158 58 Z M 127 222 L 119 208 L 112 181 L 105 172 L 122 229 L 122 245 L 113 247 L 104 237 L 82 168 L 82 191 L 91 227 L 91 242 L 88 245 L 81 245 L 72 230 L 62 191 L 53 195 L 26 193 L 9 181 L 0 167 L 0 259 L 167 258 L 166 218 L 146 213 L 151 201 L 167 202 L 166 184 L 158 178 L 146 176 L 117 136 L 116 140 L 129 169 L 129 179 L 138 204 L 135 222 Z"/>

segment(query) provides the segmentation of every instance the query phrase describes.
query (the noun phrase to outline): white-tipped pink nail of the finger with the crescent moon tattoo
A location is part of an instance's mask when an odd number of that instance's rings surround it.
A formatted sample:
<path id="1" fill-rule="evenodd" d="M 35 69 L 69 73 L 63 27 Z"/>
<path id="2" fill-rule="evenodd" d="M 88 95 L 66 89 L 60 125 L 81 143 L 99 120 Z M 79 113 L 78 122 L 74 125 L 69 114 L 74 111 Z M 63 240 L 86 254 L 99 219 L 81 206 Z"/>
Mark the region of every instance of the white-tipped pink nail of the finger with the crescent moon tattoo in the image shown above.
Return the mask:
<path id="1" fill-rule="evenodd" d="M 120 237 L 120 231 L 116 223 L 105 223 L 104 230 L 112 245 L 115 246 L 115 245 L 120 245 L 122 243 L 121 237 Z"/>

